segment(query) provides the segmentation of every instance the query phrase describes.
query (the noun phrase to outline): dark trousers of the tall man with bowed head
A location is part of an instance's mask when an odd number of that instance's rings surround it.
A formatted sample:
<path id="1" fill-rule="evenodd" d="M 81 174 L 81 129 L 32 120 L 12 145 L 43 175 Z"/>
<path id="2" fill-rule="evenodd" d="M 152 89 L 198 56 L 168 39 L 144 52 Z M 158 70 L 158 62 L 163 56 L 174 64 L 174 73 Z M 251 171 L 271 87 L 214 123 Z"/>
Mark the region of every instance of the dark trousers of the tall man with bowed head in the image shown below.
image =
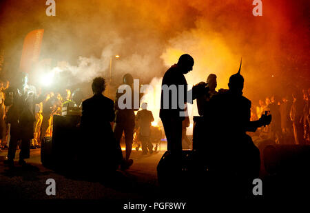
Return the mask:
<path id="1" fill-rule="evenodd" d="M 167 150 L 182 152 L 182 120 L 174 117 L 161 118 L 167 137 Z"/>

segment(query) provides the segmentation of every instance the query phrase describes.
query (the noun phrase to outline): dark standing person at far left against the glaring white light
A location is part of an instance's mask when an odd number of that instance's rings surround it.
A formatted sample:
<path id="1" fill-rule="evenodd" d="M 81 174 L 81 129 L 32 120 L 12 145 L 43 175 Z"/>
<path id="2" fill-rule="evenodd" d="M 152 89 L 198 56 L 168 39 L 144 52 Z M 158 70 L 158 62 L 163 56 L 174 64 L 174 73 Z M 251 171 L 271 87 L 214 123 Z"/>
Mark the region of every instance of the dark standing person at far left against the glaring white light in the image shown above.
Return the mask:
<path id="1" fill-rule="evenodd" d="M 30 158 L 30 141 L 34 132 L 34 104 L 39 103 L 35 88 L 28 83 L 28 74 L 19 72 L 13 86 L 6 91 L 4 104 L 9 107 L 6 122 L 10 123 L 10 145 L 6 164 L 14 166 L 18 141 L 21 140 L 19 164 Z"/>

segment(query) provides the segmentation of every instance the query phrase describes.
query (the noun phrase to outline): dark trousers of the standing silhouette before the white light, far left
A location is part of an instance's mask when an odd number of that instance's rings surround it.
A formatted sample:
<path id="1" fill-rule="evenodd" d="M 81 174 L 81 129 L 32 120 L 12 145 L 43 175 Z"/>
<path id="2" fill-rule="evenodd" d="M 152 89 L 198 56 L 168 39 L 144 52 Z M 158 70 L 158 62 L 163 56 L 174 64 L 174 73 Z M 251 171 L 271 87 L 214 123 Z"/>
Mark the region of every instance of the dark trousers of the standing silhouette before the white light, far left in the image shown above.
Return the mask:
<path id="1" fill-rule="evenodd" d="M 11 123 L 10 144 L 8 148 L 8 160 L 10 161 L 12 161 L 15 158 L 15 153 L 17 150 L 19 139 L 21 139 L 21 145 L 20 145 L 21 152 L 19 152 L 19 160 L 29 159 L 31 139 L 27 136 L 23 136 L 19 125 Z"/>

